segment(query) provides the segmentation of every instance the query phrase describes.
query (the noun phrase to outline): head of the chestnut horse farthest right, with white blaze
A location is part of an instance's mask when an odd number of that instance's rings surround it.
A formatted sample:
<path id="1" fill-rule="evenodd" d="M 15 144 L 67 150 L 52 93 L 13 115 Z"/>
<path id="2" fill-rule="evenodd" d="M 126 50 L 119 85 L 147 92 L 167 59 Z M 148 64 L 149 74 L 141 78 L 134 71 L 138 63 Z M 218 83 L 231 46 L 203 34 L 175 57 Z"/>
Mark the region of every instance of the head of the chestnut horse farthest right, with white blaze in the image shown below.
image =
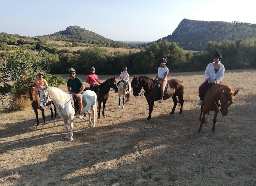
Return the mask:
<path id="1" fill-rule="evenodd" d="M 233 99 L 237 93 L 238 91 L 235 91 L 234 93 L 232 93 L 232 91 L 230 93 L 226 93 L 225 91 L 223 91 L 223 95 L 220 99 L 220 103 L 221 103 L 220 113 L 222 116 L 228 115 L 229 106 L 234 103 Z"/>

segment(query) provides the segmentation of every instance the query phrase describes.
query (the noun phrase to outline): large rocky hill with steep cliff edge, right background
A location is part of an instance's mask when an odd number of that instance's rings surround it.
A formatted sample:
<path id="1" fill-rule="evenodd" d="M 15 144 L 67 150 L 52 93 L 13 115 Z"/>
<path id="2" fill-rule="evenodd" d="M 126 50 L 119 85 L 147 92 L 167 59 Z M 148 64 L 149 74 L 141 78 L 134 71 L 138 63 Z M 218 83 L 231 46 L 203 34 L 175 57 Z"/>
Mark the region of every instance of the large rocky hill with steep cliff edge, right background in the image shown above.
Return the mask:
<path id="1" fill-rule="evenodd" d="M 185 50 L 206 50 L 208 41 L 256 38 L 256 24 L 183 19 L 175 31 L 164 38 L 177 42 Z M 149 43 L 148 43 L 149 44 Z"/>

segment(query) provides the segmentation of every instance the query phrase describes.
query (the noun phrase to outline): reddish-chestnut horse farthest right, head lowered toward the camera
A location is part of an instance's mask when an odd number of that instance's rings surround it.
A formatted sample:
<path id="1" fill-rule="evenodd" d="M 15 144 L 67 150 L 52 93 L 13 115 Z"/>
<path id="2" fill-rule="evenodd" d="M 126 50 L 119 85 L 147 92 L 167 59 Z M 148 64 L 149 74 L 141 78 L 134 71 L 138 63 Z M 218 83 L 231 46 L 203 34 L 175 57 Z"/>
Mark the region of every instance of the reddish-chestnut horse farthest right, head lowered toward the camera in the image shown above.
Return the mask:
<path id="1" fill-rule="evenodd" d="M 219 111 L 222 116 L 227 116 L 228 108 L 233 103 L 234 96 L 237 93 L 238 91 L 232 93 L 232 89 L 228 85 L 224 85 L 221 83 L 213 84 L 213 86 L 205 94 L 204 102 L 201 105 L 201 113 L 199 117 L 201 124 L 196 133 L 197 135 L 200 134 L 202 125 L 205 122 L 206 115 L 209 114 L 210 111 L 214 111 L 212 136 L 215 135 L 215 123 L 217 121 L 217 115 Z"/>

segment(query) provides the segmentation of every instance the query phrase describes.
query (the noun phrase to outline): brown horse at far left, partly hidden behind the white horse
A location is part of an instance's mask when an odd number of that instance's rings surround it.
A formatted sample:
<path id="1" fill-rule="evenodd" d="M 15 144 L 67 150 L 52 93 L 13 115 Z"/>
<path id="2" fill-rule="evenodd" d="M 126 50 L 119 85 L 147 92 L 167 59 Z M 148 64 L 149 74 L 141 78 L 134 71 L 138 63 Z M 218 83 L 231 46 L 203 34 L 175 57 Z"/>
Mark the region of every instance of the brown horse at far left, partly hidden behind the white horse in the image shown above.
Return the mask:
<path id="1" fill-rule="evenodd" d="M 29 97 L 30 97 L 30 101 L 31 101 L 31 106 L 33 107 L 33 110 L 36 114 L 36 119 L 37 119 L 36 127 L 39 127 L 38 109 L 40 109 L 40 108 L 38 107 L 38 104 L 40 101 L 40 93 L 39 93 L 38 89 L 35 87 L 35 85 L 29 85 L 28 92 L 29 92 Z M 53 106 L 54 106 L 54 118 L 56 118 L 57 109 L 56 109 L 55 105 L 53 105 Z M 42 111 L 42 117 L 43 117 L 43 125 L 45 125 L 44 109 L 41 111 Z M 52 108 L 51 108 L 51 119 L 53 119 Z"/>

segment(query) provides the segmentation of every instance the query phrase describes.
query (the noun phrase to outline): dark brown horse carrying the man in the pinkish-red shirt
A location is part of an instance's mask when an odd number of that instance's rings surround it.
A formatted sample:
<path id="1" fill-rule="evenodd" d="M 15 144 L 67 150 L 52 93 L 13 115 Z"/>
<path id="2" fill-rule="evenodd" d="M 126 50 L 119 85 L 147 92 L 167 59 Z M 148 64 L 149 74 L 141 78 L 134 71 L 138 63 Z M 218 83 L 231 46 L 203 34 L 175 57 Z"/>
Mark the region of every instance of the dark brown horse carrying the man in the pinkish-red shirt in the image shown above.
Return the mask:
<path id="1" fill-rule="evenodd" d="M 103 102 L 103 105 L 102 105 L 102 116 L 103 118 L 106 118 L 105 116 L 105 105 L 106 105 L 106 102 L 107 102 L 107 99 L 109 97 L 109 91 L 110 91 L 110 88 L 114 89 L 114 91 L 117 93 L 118 92 L 118 87 L 117 87 L 117 81 L 116 81 L 116 78 L 110 78 L 110 79 L 107 79 L 106 81 L 104 81 L 103 83 L 101 83 L 99 85 L 99 91 L 97 92 L 97 101 L 99 103 L 99 107 L 98 107 L 98 118 L 100 118 L 100 108 L 101 108 L 101 103 Z M 89 87 L 86 87 L 84 90 L 88 90 Z"/>

